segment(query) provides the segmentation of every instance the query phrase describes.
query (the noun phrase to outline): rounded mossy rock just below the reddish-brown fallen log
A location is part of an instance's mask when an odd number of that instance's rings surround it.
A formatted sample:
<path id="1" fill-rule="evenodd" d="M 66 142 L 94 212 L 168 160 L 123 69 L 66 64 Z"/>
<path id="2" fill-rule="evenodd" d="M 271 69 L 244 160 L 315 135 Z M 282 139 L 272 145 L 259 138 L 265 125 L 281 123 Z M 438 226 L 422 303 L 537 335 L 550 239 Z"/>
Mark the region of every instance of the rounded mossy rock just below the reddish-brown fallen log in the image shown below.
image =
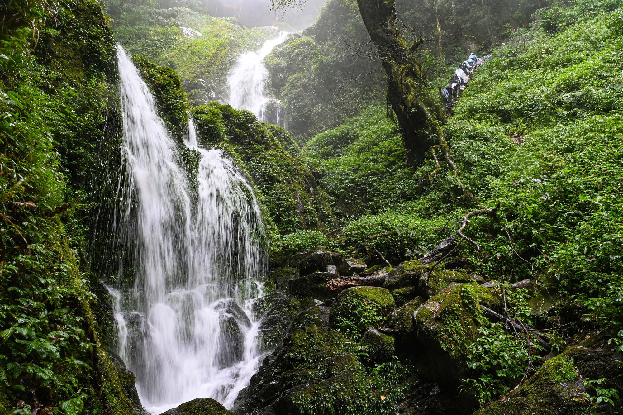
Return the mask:
<path id="1" fill-rule="evenodd" d="M 352 287 L 335 298 L 331 307 L 330 322 L 336 325 L 341 320 L 355 317 L 355 310 L 372 307 L 376 315 L 386 316 L 396 309 L 396 302 L 388 289 L 382 287 Z"/>

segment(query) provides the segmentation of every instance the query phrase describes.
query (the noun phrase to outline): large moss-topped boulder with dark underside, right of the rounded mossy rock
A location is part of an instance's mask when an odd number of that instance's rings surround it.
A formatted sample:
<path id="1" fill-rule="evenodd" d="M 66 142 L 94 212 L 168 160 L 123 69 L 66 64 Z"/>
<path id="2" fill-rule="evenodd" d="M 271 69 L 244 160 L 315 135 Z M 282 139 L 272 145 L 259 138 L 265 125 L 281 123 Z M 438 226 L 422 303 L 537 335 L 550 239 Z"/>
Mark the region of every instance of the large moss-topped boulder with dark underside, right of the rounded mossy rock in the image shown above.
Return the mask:
<path id="1" fill-rule="evenodd" d="M 465 358 L 485 320 L 481 303 L 498 308 L 502 301 L 478 284 L 452 283 L 413 313 L 417 342 L 428 355 L 432 376 L 444 388 L 457 388 L 468 377 Z"/>

